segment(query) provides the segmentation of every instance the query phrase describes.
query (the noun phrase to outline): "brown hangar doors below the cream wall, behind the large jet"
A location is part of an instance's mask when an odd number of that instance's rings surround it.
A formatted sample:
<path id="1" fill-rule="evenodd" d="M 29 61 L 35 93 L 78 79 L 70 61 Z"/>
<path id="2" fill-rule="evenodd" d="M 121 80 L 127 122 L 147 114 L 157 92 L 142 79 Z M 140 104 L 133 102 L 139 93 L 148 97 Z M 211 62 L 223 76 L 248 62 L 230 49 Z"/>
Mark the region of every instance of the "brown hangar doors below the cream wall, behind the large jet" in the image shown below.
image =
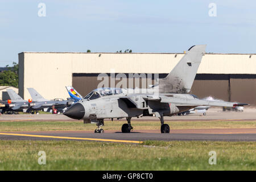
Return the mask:
<path id="1" fill-rule="evenodd" d="M 73 74 L 72 85 L 82 96 L 86 96 L 90 91 L 96 89 L 101 82 L 101 80 L 97 80 L 97 75 Z M 163 78 L 166 75 L 160 74 L 159 77 Z M 117 82 L 119 81 L 116 80 L 115 85 Z M 142 85 L 141 82 L 142 80 L 140 80 L 140 85 Z M 135 88 L 135 81 L 133 81 L 133 86 L 129 86 L 127 80 L 127 87 Z M 256 75 L 197 74 L 190 93 L 200 98 L 210 96 L 217 100 L 256 104 Z"/>

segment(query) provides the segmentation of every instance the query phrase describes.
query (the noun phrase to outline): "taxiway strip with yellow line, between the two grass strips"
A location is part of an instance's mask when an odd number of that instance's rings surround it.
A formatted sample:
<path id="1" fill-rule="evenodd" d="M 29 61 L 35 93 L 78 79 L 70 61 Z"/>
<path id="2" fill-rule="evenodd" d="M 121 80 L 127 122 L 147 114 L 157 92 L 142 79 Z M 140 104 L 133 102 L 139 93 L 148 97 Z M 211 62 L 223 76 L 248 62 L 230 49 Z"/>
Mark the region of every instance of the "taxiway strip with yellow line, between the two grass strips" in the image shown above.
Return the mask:
<path id="1" fill-rule="evenodd" d="M 145 140 L 225 140 L 256 141 L 255 129 L 197 129 L 172 130 L 170 134 L 161 134 L 159 130 L 135 130 L 121 133 L 106 130 L 104 134 L 92 131 L 23 131 L 2 132 L 1 140 L 94 140 L 101 142 L 141 143 Z"/>

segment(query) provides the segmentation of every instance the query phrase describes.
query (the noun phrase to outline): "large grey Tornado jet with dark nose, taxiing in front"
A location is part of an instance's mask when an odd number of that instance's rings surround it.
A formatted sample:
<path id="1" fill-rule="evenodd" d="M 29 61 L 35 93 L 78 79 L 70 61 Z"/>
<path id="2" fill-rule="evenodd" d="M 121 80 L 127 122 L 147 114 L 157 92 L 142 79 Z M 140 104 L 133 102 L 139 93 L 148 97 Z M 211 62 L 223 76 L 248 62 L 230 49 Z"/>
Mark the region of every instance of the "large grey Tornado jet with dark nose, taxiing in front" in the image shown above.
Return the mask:
<path id="1" fill-rule="evenodd" d="M 154 116 L 160 119 L 161 133 L 170 133 L 164 116 L 172 116 L 197 106 L 247 105 L 237 102 L 200 100 L 189 94 L 206 45 L 192 46 L 179 63 L 158 83 L 146 89 L 98 88 L 64 111 L 73 119 L 96 123 L 95 133 L 104 133 L 104 119 L 126 118 L 122 133 L 129 133 L 132 117 Z"/>

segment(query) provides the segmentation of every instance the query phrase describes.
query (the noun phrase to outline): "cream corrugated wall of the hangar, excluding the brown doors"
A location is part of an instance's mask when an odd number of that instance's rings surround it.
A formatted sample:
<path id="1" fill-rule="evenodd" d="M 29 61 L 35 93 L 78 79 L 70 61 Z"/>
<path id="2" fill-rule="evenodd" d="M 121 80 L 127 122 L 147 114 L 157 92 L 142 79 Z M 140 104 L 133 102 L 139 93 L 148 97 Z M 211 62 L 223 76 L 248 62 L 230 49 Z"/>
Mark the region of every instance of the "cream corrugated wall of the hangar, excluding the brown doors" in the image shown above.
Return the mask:
<path id="1" fill-rule="evenodd" d="M 65 86 L 72 85 L 73 73 L 167 74 L 182 56 L 183 53 L 23 52 L 19 54 L 19 94 L 27 100 L 30 98 L 27 88 L 32 87 L 47 99 L 67 98 Z M 197 73 L 255 75 L 256 55 L 205 54 Z M 225 85 L 222 82 L 214 84 L 217 87 Z M 225 98 L 225 94 L 221 98 Z"/>

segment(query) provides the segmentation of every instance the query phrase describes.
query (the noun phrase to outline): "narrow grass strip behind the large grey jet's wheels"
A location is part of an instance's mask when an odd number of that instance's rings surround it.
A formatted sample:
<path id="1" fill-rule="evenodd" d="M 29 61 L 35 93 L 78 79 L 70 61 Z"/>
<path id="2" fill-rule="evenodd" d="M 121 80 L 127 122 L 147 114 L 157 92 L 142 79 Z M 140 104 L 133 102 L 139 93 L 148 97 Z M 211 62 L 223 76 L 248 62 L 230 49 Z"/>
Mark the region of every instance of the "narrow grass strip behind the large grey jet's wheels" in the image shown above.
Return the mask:
<path id="1" fill-rule="evenodd" d="M 106 121 L 104 130 L 121 130 L 125 121 Z M 256 121 L 168 121 L 171 129 L 256 128 Z M 158 121 L 132 121 L 134 130 L 159 130 Z M 2 121 L 0 131 L 95 130 L 95 124 L 82 121 Z"/>

